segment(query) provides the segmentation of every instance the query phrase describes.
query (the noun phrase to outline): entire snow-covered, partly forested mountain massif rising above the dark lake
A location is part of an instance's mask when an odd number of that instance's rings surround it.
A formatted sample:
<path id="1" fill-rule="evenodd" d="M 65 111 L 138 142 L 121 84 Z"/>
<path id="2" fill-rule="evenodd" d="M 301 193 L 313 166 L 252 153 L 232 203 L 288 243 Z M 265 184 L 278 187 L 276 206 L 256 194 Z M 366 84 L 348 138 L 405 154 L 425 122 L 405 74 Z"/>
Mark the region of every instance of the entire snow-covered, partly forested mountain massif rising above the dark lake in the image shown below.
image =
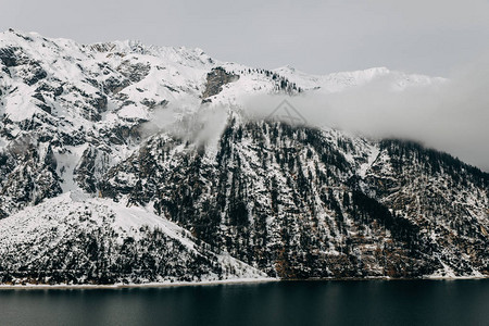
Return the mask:
<path id="1" fill-rule="evenodd" d="M 1 34 L 1 281 L 489 275 L 488 174 L 412 142 L 252 118 L 240 100 L 386 77 L 444 83 Z"/>

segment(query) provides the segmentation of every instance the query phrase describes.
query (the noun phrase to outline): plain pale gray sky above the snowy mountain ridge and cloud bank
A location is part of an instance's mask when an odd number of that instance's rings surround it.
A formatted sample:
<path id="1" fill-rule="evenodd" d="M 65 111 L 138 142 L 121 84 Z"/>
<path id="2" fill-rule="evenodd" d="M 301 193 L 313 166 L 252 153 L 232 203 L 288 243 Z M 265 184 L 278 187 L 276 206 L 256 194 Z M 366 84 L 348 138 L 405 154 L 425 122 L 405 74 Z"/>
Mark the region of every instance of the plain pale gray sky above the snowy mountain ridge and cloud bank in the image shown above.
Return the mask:
<path id="1" fill-rule="evenodd" d="M 200 47 L 225 61 L 325 74 L 449 76 L 489 49 L 489 0 L 0 0 L 0 29 L 79 42 Z"/>

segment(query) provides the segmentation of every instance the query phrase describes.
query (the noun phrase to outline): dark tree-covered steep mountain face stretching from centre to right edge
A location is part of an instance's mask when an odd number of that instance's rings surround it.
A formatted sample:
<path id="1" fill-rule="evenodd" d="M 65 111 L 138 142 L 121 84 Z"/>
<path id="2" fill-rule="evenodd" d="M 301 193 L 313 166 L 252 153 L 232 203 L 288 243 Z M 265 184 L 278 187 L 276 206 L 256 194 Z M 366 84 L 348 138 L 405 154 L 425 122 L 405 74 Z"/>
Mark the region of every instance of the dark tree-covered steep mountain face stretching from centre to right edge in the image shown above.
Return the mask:
<path id="1" fill-rule="evenodd" d="M 155 136 L 109 171 L 102 193 L 151 202 L 273 277 L 488 272 L 488 176 L 447 154 L 236 118 L 218 148 Z"/>

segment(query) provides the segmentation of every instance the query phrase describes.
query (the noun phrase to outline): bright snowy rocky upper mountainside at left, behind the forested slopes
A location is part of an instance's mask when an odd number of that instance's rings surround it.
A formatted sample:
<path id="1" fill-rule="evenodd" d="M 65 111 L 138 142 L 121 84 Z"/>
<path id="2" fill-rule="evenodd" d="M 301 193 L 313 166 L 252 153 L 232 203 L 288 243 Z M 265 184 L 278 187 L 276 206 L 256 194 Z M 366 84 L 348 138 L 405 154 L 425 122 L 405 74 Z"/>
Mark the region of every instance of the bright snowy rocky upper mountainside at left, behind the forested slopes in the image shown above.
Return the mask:
<path id="1" fill-rule="evenodd" d="M 59 189 L 73 189 L 74 180 L 92 191 L 92 174 L 103 174 L 137 147 L 145 137 L 142 123 L 153 115 L 160 123 L 171 123 L 196 112 L 202 98 L 212 101 L 226 84 L 239 78 L 235 71 L 244 72 L 227 64 L 227 73 L 221 65 L 199 49 L 134 41 L 83 46 L 37 34 L 2 33 L 0 158 L 5 163 L 0 171 L 0 216 L 57 196 Z M 264 71 L 249 70 L 241 82 L 247 86 L 238 85 L 240 91 L 292 90 L 287 79 Z M 46 148 L 52 162 L 35 161 L 45 160 L 37 158 L 42 153 L 25 154 L 26 146 L 34 151 Z M 104 163 L 86 173 L 93 160 Z M 48 167 L 54 165 L 52 174 Z M 8 181 L 20 179 L 26 171 L 43 175 L 41 187 L 52 189 L 38 192 L 37 181 L 27 176 L 18 185 Z"/>

